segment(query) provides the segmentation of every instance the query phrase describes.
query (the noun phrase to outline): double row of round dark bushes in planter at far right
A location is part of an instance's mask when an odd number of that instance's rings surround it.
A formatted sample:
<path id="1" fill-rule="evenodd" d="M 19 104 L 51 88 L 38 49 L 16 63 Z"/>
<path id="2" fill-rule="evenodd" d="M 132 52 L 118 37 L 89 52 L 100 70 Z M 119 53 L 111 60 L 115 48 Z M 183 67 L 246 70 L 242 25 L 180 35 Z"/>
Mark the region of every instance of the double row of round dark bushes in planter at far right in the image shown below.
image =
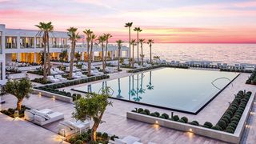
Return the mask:
<path id="1" fill-rule="evenodd" d="M 238 126 L 238 122 L 242 117 L 243 111 L 246 108 L 246 104 L 249 101 L 251 94 L 252 93 L 250 91 L 246 93 L 245 91 L 240 90 L 213 129 L 233 134 Z"/>

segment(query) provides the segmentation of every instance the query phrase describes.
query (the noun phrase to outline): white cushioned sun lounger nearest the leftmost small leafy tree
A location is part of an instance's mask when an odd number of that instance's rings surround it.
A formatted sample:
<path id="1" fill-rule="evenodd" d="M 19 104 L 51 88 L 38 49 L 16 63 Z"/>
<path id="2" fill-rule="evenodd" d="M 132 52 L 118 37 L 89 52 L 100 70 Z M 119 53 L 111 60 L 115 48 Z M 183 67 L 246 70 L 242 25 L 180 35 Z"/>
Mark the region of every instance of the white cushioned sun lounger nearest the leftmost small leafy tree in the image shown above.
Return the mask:
<path id="1" fill-rule="evenodd" d="M 64 118 L 64 114 L 60 112 L 54 112 L 50 109 L 43 110 L 25 110 L 25 119 L 34 122 L 40 126 L 46 125 L 51 122 L 56 122 Z"/>

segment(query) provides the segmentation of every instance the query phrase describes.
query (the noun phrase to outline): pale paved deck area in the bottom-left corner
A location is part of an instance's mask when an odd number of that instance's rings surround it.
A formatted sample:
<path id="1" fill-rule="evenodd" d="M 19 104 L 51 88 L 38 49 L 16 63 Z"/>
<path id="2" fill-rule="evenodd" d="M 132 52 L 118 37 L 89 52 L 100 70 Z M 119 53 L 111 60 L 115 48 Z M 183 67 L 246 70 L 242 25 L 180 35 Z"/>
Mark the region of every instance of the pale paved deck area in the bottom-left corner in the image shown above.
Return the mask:
<path id="1" fill-rule="evenodd" d="M 22 119 L 14 120 L 0 113 L 0 143 L 37 143 L 37 144 L 59 144 L 62 142 L 58 134 L 46 130 L 33 123 Z"/>

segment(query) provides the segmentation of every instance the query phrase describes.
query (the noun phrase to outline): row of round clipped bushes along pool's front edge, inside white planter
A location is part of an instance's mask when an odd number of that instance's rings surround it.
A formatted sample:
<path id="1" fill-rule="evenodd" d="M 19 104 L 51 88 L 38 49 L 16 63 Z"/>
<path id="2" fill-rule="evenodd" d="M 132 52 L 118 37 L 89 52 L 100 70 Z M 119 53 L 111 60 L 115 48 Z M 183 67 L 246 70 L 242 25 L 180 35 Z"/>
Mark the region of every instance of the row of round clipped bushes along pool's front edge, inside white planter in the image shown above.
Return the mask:
<path id="1" fill-rule="evenodd" d="M 167 119 L 167 120 L 175 121 L 175 122 L 188 123 L 188 124 L 194 125 L 194 126 L 203 126 L 203 127 L 206 127 L 206 128 L 212 128 L 212 126 L 213 126 L 213 124 L 210 123 L 210 122 L 205 122 L 203 125 L 199 125 L 198 121 L 189 122 L 189 119 L 186 118 L 186 117 L 179 118 L 178 115 L 174 115 L 173 117 L 170 117 L 166 113 L 160 114 L 157 111 L 153 112 L 153 113 L 150 113 L 150 110 L 147 110 L 147 109 L 143 110 L 142 108 L 138 108 L 138 109 L 135 108 L 135 110 L 132 110 L 132 112 L 139 113 L 139 114 L 146 114 L 146 115 L 150 115 L 152 117 L 163 118 L 163 119 Z"/>

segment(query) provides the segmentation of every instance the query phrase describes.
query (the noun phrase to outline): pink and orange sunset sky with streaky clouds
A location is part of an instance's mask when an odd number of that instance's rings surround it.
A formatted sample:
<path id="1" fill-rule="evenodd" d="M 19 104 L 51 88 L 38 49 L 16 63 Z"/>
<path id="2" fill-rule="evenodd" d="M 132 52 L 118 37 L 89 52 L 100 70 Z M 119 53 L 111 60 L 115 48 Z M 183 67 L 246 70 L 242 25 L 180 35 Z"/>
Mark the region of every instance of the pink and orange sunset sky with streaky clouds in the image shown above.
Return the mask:
<path id="1" fill-rule="evenodd" d="M 32 29 L 90 28 L 127 41 L 126 22 L 155 42 L 256 43 L 256 1 L 246 0 L 0 0 L 0 23 Z M 135 38 L 135 33 L 133 38 Z M 82 33 L 81 33 L 82 34 Z"/>

